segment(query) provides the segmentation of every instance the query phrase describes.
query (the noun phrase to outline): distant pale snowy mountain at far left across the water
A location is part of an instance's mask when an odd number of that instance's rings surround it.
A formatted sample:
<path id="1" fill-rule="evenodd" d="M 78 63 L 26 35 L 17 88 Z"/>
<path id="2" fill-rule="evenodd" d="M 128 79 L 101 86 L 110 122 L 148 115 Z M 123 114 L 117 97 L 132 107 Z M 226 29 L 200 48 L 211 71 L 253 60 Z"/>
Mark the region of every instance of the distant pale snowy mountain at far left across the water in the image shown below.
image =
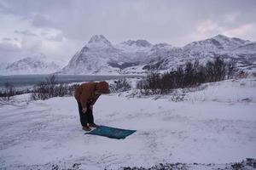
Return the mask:
<path id="1" fill-rule="evenodd" d="M 59 70 L 60 67 L 55 62 L 49 61 L 44 54 L 33 54 L 7 65 L 3 74 L 49 74 Z"/>

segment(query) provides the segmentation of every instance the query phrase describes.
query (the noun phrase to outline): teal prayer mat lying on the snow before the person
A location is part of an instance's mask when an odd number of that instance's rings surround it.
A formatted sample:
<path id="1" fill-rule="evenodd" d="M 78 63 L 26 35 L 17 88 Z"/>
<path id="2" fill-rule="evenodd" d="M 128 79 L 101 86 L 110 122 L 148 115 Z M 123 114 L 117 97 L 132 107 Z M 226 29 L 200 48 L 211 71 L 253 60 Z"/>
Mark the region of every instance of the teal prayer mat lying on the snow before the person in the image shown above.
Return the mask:
<path id="1" fill-rule="evenodd" d="M 100 127 L 96 127 L 96 129 L 90 131 L 89 133 L 85 133 L 85 134 L 105 136 L 105 137 L 108 137 L 111 139 L 125 139 L 127 136 L 129 136 L 135 132 L 136 132 L 136 130 L 128 130 L 128 129 L 114 128 L 114 127 L 100 126 Z"/>

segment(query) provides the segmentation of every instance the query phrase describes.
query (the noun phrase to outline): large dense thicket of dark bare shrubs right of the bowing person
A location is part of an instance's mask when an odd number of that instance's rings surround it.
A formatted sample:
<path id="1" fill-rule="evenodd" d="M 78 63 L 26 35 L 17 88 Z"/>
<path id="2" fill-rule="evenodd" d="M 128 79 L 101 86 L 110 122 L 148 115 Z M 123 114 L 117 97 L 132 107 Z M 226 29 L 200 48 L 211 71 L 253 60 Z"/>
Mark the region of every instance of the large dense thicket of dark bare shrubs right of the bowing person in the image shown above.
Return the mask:
<path id="1" fill-rule="evenodd" d="M 195 88 L 204 82 L 218 82 L 234 76 L 235 64 L 227 63 L 219 57 L 200 65 L 198 60 L 187 62 L 175 71 L 163 74 L 150 71 L 142 81 L 137 83 L 137 89 L 142 94 L 170 94 L 176 88 Z"/>

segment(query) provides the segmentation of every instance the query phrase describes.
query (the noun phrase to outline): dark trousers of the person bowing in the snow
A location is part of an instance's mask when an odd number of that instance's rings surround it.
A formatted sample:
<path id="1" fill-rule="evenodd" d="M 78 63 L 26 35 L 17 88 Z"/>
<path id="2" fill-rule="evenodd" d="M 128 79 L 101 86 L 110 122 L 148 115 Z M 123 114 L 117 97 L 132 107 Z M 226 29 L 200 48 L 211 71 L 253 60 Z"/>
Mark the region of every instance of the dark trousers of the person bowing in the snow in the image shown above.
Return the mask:
<path id="1" fill-rule="evenodd" d="M 83 108 L 80 102 L 79 104 L 79 115 L 80 115 L 80 122 L 83 127 L 88 126 L 87 123 L 94 123 L 93 115 L 92 115 L 92 110 L 90 108 L 90 104 L 87 104 L 87 111 L 83 113 Z"/>

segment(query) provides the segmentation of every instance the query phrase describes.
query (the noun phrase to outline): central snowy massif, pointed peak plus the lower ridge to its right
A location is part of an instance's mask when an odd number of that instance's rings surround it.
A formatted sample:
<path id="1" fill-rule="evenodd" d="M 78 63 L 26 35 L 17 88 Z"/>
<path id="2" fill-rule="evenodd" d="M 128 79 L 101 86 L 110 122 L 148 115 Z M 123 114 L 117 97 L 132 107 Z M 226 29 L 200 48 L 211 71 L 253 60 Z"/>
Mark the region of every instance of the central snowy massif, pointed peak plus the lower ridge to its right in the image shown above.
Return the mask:
<path id="1" fill-rule="evenodd" d="M 172 46 L 164 43 L 152 45 L 146 40 L 128 40 L 112 45 L 106 37 L 96 35 L 91 37 L 84 48 L 73 56 L 61 73 L 124 73 L 125 70 L 134 70 L 134 66 L 137 70 L 137 67 L 142 67 L 159 56 L 165 56 L 171 48 Z"/>

